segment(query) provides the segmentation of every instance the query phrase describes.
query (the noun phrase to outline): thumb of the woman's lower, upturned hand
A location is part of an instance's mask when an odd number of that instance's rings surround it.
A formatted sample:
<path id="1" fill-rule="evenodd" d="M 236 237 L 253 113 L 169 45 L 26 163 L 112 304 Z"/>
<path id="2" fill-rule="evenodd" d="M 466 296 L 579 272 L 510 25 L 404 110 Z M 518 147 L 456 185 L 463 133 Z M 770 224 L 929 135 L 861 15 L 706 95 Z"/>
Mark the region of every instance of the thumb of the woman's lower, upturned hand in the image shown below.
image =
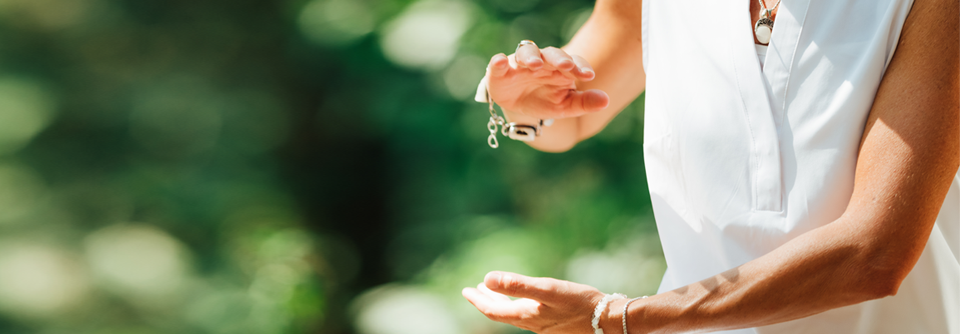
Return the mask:
<path id="1" fill-rule="evenodd" d="M 552 278 L 527 277 L 491 271 L 483 278 L 488 289 L 508 296 L 529 298 L 549 304 L 562 290 L 563 283 Z"/>

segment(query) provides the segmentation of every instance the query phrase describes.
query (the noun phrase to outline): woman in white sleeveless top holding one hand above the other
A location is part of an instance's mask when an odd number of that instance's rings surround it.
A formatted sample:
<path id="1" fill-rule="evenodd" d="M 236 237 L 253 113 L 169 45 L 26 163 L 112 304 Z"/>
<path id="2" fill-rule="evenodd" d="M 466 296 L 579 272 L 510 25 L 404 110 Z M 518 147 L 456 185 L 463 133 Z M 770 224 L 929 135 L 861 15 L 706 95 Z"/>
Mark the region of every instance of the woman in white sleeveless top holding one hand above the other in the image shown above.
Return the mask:
<path id="1" fill-rule="evenodd" d="M 543 151 L 646 90 L 668 270 L 638 300 L 503 272 L 464 297 L 538 333 L 960 333 L 958 1 L 750 1 L 599 0 L 491 59 L 510 121 L 555 119 Z"/>

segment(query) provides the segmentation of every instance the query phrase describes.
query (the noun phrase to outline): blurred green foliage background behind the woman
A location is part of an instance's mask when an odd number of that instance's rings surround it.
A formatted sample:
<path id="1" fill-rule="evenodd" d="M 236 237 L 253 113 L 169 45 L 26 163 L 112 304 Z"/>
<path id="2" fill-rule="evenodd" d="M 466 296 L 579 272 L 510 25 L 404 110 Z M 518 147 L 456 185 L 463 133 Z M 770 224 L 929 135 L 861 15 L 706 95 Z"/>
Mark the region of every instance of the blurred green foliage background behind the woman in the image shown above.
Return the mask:
<path id="1" fill-rule="evenodd" d="M 0 333 L 512 333 L 489 270 L 652 293 L 642 97 L 486 145 L 582 0 L 0 0 Z"/>

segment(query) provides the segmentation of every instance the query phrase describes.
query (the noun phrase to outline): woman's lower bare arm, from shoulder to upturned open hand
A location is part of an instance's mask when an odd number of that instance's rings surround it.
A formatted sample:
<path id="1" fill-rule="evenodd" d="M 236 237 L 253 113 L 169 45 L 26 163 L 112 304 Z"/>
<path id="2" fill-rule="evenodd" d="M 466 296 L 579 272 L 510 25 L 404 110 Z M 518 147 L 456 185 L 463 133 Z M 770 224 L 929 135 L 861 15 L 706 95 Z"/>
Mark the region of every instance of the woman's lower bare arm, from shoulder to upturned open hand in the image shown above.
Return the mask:
<path id="1" fill-rule="evenodd" d="M 914 3 L 870 111 L 854 192 L 839 219 L 738 268 L 634 302 L 631 332 L 769 325 L 896 294 L 960 165 L 958 17 L 957 0 Z M 578 314 L 602 296 L 580 284 L 503 273 L 488 275 L 485 287 L 495 292 L 464 295 L 488 317 L 541 333 L 589 332 Z M 537 304 L 498 303 L 497 293 Z M 620 333 L 621 320 L 609 312 L 601 327 Z"/>

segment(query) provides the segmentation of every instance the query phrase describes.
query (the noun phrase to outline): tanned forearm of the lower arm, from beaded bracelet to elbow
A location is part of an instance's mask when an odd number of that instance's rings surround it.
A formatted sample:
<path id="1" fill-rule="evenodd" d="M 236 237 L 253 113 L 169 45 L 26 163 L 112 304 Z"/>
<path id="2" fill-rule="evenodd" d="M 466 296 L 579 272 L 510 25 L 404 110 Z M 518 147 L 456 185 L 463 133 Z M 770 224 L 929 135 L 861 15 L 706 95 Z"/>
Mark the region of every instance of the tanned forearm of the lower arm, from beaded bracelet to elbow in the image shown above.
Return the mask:
<path id="1" fill-rule="evenodd" d="M 891 254 L 879 242 L 851 238 L 859 224 L 848 220 L 810 231 L 735 269 L 635 302 L 628 327 L 633 333 L 756 327 L 893 294 L 899 275 L 892 268 L 899 266 L 878 265 L 877 259 L 905 262 L 910 259 L 898 257 L 912 254 Z M 611 305 L 605 332 L 619 332 L 619 312 L 613 311 L 622 307 L 623 301 Z"/>

